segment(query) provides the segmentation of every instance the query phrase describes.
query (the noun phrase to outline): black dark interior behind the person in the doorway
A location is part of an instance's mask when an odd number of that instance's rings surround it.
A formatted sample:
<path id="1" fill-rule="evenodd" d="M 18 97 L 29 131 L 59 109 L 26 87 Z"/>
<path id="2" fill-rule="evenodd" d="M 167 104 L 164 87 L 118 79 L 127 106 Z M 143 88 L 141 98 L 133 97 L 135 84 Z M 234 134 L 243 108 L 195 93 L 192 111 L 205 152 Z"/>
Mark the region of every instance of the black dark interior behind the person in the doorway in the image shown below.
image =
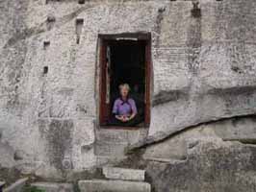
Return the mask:
<path id="1" fill-rule="evenodd" d="M 145 41 L 115 40 L 110 43 L 111 104 L 119 97 L 119 84 L 129 84 L 130 96 L 144 117 Z M 111 112 L 111 111 L 110 111 Z"/>

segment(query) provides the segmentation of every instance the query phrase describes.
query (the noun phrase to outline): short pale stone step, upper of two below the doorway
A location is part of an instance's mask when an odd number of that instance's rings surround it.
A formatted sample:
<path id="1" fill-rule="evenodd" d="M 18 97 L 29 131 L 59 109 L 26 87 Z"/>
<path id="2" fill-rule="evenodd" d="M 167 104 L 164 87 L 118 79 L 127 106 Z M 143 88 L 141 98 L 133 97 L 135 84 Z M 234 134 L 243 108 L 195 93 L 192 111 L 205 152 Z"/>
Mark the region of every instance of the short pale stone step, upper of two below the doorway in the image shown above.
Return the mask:
<path id="1" fill-rule="evenodd" d="M 103 175 L 111 180 L 135 180 L 144 181 L 145 171 L 136 169 L 123 169 L 117 167 L 103 167 Z"/>

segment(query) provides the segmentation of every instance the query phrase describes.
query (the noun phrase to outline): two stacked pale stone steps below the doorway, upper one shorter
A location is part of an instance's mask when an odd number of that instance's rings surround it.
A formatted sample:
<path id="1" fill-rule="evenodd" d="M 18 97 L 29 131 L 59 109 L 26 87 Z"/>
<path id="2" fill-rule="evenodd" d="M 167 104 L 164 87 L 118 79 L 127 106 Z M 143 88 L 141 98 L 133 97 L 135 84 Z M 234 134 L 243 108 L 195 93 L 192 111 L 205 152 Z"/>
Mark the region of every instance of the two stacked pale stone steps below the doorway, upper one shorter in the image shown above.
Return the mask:
<path id="1" fill-rule="evenodd" d="M 103 167 L 105 180 L 80 180 L 81 192 L 150 192 L 143 170 Z"/>

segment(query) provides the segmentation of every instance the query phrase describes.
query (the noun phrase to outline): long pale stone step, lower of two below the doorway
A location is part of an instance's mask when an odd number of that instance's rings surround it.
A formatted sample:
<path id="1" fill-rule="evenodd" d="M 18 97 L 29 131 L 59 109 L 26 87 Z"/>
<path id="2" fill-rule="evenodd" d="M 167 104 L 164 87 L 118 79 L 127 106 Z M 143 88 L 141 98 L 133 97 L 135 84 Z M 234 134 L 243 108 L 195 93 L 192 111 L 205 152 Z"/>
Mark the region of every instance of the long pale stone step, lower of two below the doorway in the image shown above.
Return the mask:
<path id="1" fill-rule="evenodd" d="M 150 192 L 151 186 L 146 182 L 124 180 L 80 180 L 81 192 Z"/>

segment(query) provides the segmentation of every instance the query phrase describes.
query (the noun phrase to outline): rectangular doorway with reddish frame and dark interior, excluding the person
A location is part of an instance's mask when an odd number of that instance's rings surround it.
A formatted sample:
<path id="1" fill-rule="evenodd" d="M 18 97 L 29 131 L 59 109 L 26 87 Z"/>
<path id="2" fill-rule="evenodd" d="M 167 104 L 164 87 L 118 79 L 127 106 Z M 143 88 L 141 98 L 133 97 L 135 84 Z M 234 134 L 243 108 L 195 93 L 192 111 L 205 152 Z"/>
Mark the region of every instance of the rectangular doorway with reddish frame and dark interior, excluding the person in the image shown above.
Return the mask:
<path id="1" fill-rule="evenodd" d="M 141 122 L 150 123 L 151 36 L 101 35 L 100 39 L 100 111 L 104 128 L 114 127 L 112 109 L 119 98 L 119 84 L 129 84 L 130 97 L 136 102 Z M 115 126 L 116 127 L 116 126 Z M 127 129 L 127 127 L 126 127 Z"/>

